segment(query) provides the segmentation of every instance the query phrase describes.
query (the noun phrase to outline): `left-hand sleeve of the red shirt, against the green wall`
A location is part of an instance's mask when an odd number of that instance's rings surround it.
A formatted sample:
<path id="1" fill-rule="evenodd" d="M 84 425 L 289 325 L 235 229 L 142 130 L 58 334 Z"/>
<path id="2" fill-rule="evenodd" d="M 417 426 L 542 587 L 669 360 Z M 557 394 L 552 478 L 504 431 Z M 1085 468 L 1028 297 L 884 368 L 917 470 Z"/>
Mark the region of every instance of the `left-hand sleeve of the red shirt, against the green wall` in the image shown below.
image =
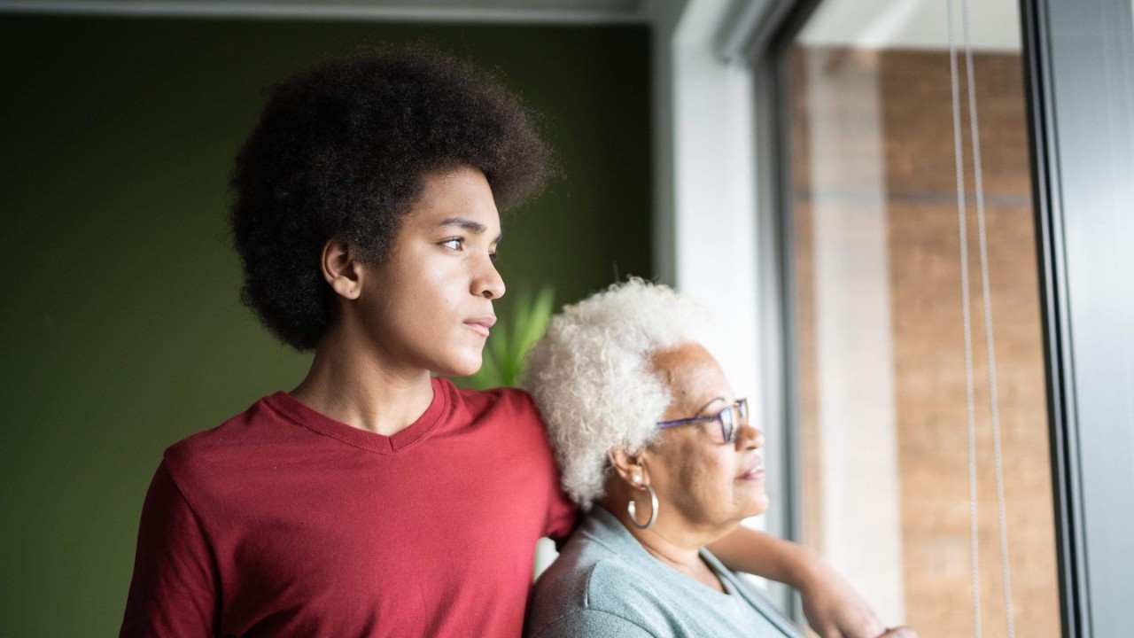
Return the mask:
<path id="1" fill-rule="evenodd" d="M 205 534 L 162 462 L 142 506 L 119 636 L 214 636 L 218 593 Z"/>

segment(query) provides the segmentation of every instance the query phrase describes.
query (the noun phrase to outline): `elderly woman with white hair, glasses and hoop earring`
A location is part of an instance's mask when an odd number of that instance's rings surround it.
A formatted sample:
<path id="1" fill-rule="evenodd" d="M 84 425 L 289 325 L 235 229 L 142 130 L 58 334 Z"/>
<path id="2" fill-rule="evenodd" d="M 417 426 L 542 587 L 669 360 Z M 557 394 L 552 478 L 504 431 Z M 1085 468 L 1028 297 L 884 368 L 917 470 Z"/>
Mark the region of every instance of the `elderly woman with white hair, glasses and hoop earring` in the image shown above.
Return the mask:
<path id="1" fill-rule="evenodd" d="M 536 584 L 528 636 L 801 636 L 705 549 L 768 509 L 763 434 L 705 327 L 634 279 L 567 307 L 530 354 L 525 385 L 587 513 Z"/>

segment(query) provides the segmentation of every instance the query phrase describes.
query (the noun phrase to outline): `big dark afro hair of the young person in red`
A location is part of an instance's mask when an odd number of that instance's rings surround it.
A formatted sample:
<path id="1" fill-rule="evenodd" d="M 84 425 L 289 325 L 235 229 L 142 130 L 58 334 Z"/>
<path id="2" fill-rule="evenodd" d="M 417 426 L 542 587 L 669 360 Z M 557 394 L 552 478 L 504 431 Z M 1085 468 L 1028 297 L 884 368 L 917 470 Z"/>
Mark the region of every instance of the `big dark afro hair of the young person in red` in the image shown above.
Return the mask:
<path id="1" fill-rule="evenodd" d="M 280 341 L 314 349 L 331 322 L 329 241 L 380 263 L 425 175 L 476 168 L 508 208 L 541 191 L 551 161 L 518 98 L 437 51 L 371 50 L 301 73 L 271 87 L 236 158 L 242 299 Z"/>

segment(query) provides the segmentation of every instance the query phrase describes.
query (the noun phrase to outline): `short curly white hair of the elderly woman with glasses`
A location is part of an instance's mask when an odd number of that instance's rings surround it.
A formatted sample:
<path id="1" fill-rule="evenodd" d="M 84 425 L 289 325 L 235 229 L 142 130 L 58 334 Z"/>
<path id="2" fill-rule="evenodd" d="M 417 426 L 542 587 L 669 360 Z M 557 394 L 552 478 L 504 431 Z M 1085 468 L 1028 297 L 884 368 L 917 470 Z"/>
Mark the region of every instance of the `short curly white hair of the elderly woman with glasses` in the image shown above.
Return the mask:
<path id="1" fill-rule="evenodd" d="M 564 490 L 584 510 L 603 495 L 609 451 L 658 438 L 670 394 L 653 355 L 700 343 L 708 328 L 692 297 L 632 278 L 565 307 L 528 352 L 522 385 L 547 422 Z"/>

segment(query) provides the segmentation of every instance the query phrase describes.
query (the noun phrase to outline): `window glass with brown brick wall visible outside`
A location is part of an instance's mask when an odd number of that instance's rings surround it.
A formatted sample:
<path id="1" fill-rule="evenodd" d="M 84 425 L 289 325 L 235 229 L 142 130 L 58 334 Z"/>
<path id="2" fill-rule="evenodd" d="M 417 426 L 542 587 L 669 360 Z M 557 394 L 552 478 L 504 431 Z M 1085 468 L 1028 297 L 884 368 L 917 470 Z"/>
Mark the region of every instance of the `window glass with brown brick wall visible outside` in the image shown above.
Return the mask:
<path id="1" fill-rule="evenodd" d="M 1019 17 L 1010 0 L 970 11 L 1008 549 L 962 54 L 981 624 L 1007 635 L 1007 573 L 1015 635 L 1058 636 Z M 785 60 L 804 542 L 923 638 L 971 636 L 975 615 L 947 16 L 945 0 L 827 0 Z"/>

